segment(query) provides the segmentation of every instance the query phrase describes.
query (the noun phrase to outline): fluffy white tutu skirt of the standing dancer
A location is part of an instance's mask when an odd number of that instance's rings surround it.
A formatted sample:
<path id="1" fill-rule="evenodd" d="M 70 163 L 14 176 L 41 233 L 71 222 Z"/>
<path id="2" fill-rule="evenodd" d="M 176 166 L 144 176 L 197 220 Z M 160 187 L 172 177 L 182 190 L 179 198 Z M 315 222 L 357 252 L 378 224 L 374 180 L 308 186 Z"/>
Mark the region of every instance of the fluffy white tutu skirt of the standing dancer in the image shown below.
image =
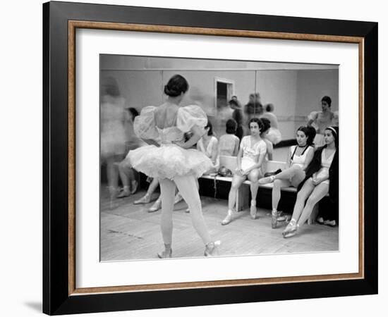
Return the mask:
<path id="1" fill-rule="evenodd" d="M 196 149 L 183 149 L 176 144 L 139 147 L 129 151 L 127 157 L 135 170 L 152 178 L 172 180 L 184 175 L 200 178 L 212 168 L 212 161 L 205 154 Z"/>

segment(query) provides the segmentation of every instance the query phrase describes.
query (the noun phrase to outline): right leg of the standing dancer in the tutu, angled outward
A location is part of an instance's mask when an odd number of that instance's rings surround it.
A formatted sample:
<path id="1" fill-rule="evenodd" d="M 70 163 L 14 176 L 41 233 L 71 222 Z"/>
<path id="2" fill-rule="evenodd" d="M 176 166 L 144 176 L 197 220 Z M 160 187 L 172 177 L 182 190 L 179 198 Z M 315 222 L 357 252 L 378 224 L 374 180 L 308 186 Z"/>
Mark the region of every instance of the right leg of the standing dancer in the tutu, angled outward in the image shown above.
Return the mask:
<path id="1" fill-rule="evenodd" d="M 200 235 L 203 243 L 205 245 L 208 244 L 212 240 L 210 240 L 210 235 L 205 225 L 205 219 L 202 215 L 200 194 L 198 193 L 198 190 L 195 190 L 195 177 L 190 175 L 177 176 L 174 178 L 174 182 L 176 184 L 176 187 L 178 187 L 178 190 L 181 193 L 183 199 L 185 199 L 186 204 L 188 204 L 188 208 L 190 209 L 191 220 L 193 222 L 193 227 L 198 232 L 198 235 Z M 172 204 L 174 204 L 174 199 L 172 199 L 171 201 Z M 164 202 L 162 202 L 162 210 L 164 209 L 163 204 Z"/>

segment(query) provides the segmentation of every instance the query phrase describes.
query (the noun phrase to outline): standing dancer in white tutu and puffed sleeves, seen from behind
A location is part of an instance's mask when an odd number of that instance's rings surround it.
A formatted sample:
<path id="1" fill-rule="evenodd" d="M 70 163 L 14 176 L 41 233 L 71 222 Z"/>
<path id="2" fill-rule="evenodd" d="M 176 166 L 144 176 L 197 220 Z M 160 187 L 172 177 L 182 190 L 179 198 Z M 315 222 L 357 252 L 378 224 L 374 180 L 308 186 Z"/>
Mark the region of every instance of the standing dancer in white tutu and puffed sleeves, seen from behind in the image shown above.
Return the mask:
<path id="1" fill-rule="evenodd" d="M 151 144 L 130 152 L 130 159 L 136 170 L 158 178 L 162 194 L 161 229 L 164 250 L 159 258 L 172 256 L 171 242 L 173 231 L 172 212 L 175 189 L 178 187 L 190 209 L 195 230 L 205 244 L 205 256 L 216 253 L 215 243 L 205 225 L 202 215 L 200 195 L 196 190 L 195 178 L 199 178 L 212 167 L 212 161 L 196 149 L 190 149 L 202 137 L 207 125 L 207 116 L 199 106 L 179 107 L 188 82 L 181 75 L 171 77 L 164 86 L 166 102 L 161 106 L 143 108 L 135 119 L 135 132 Z M 184 142 L 183 133 L 193 132 Z M 160 140 L 160 147 L 156 139 Z"/>

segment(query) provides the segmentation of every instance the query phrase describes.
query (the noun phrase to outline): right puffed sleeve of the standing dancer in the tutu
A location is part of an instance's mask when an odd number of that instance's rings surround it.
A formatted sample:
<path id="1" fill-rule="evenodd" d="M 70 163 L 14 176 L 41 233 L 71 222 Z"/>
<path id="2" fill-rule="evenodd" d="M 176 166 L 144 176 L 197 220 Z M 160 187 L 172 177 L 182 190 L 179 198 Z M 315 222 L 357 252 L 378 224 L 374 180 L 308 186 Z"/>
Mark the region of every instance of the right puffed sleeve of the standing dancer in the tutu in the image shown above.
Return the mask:
<path id="1" fill-rule="evenodd" d="M 194 125 L 205 128 L 207 125 L 207 116 L 200 106 L 186 106 L 178 109 L 176 116 L 176 126 L 182 132 L 188 132 Z"/>

